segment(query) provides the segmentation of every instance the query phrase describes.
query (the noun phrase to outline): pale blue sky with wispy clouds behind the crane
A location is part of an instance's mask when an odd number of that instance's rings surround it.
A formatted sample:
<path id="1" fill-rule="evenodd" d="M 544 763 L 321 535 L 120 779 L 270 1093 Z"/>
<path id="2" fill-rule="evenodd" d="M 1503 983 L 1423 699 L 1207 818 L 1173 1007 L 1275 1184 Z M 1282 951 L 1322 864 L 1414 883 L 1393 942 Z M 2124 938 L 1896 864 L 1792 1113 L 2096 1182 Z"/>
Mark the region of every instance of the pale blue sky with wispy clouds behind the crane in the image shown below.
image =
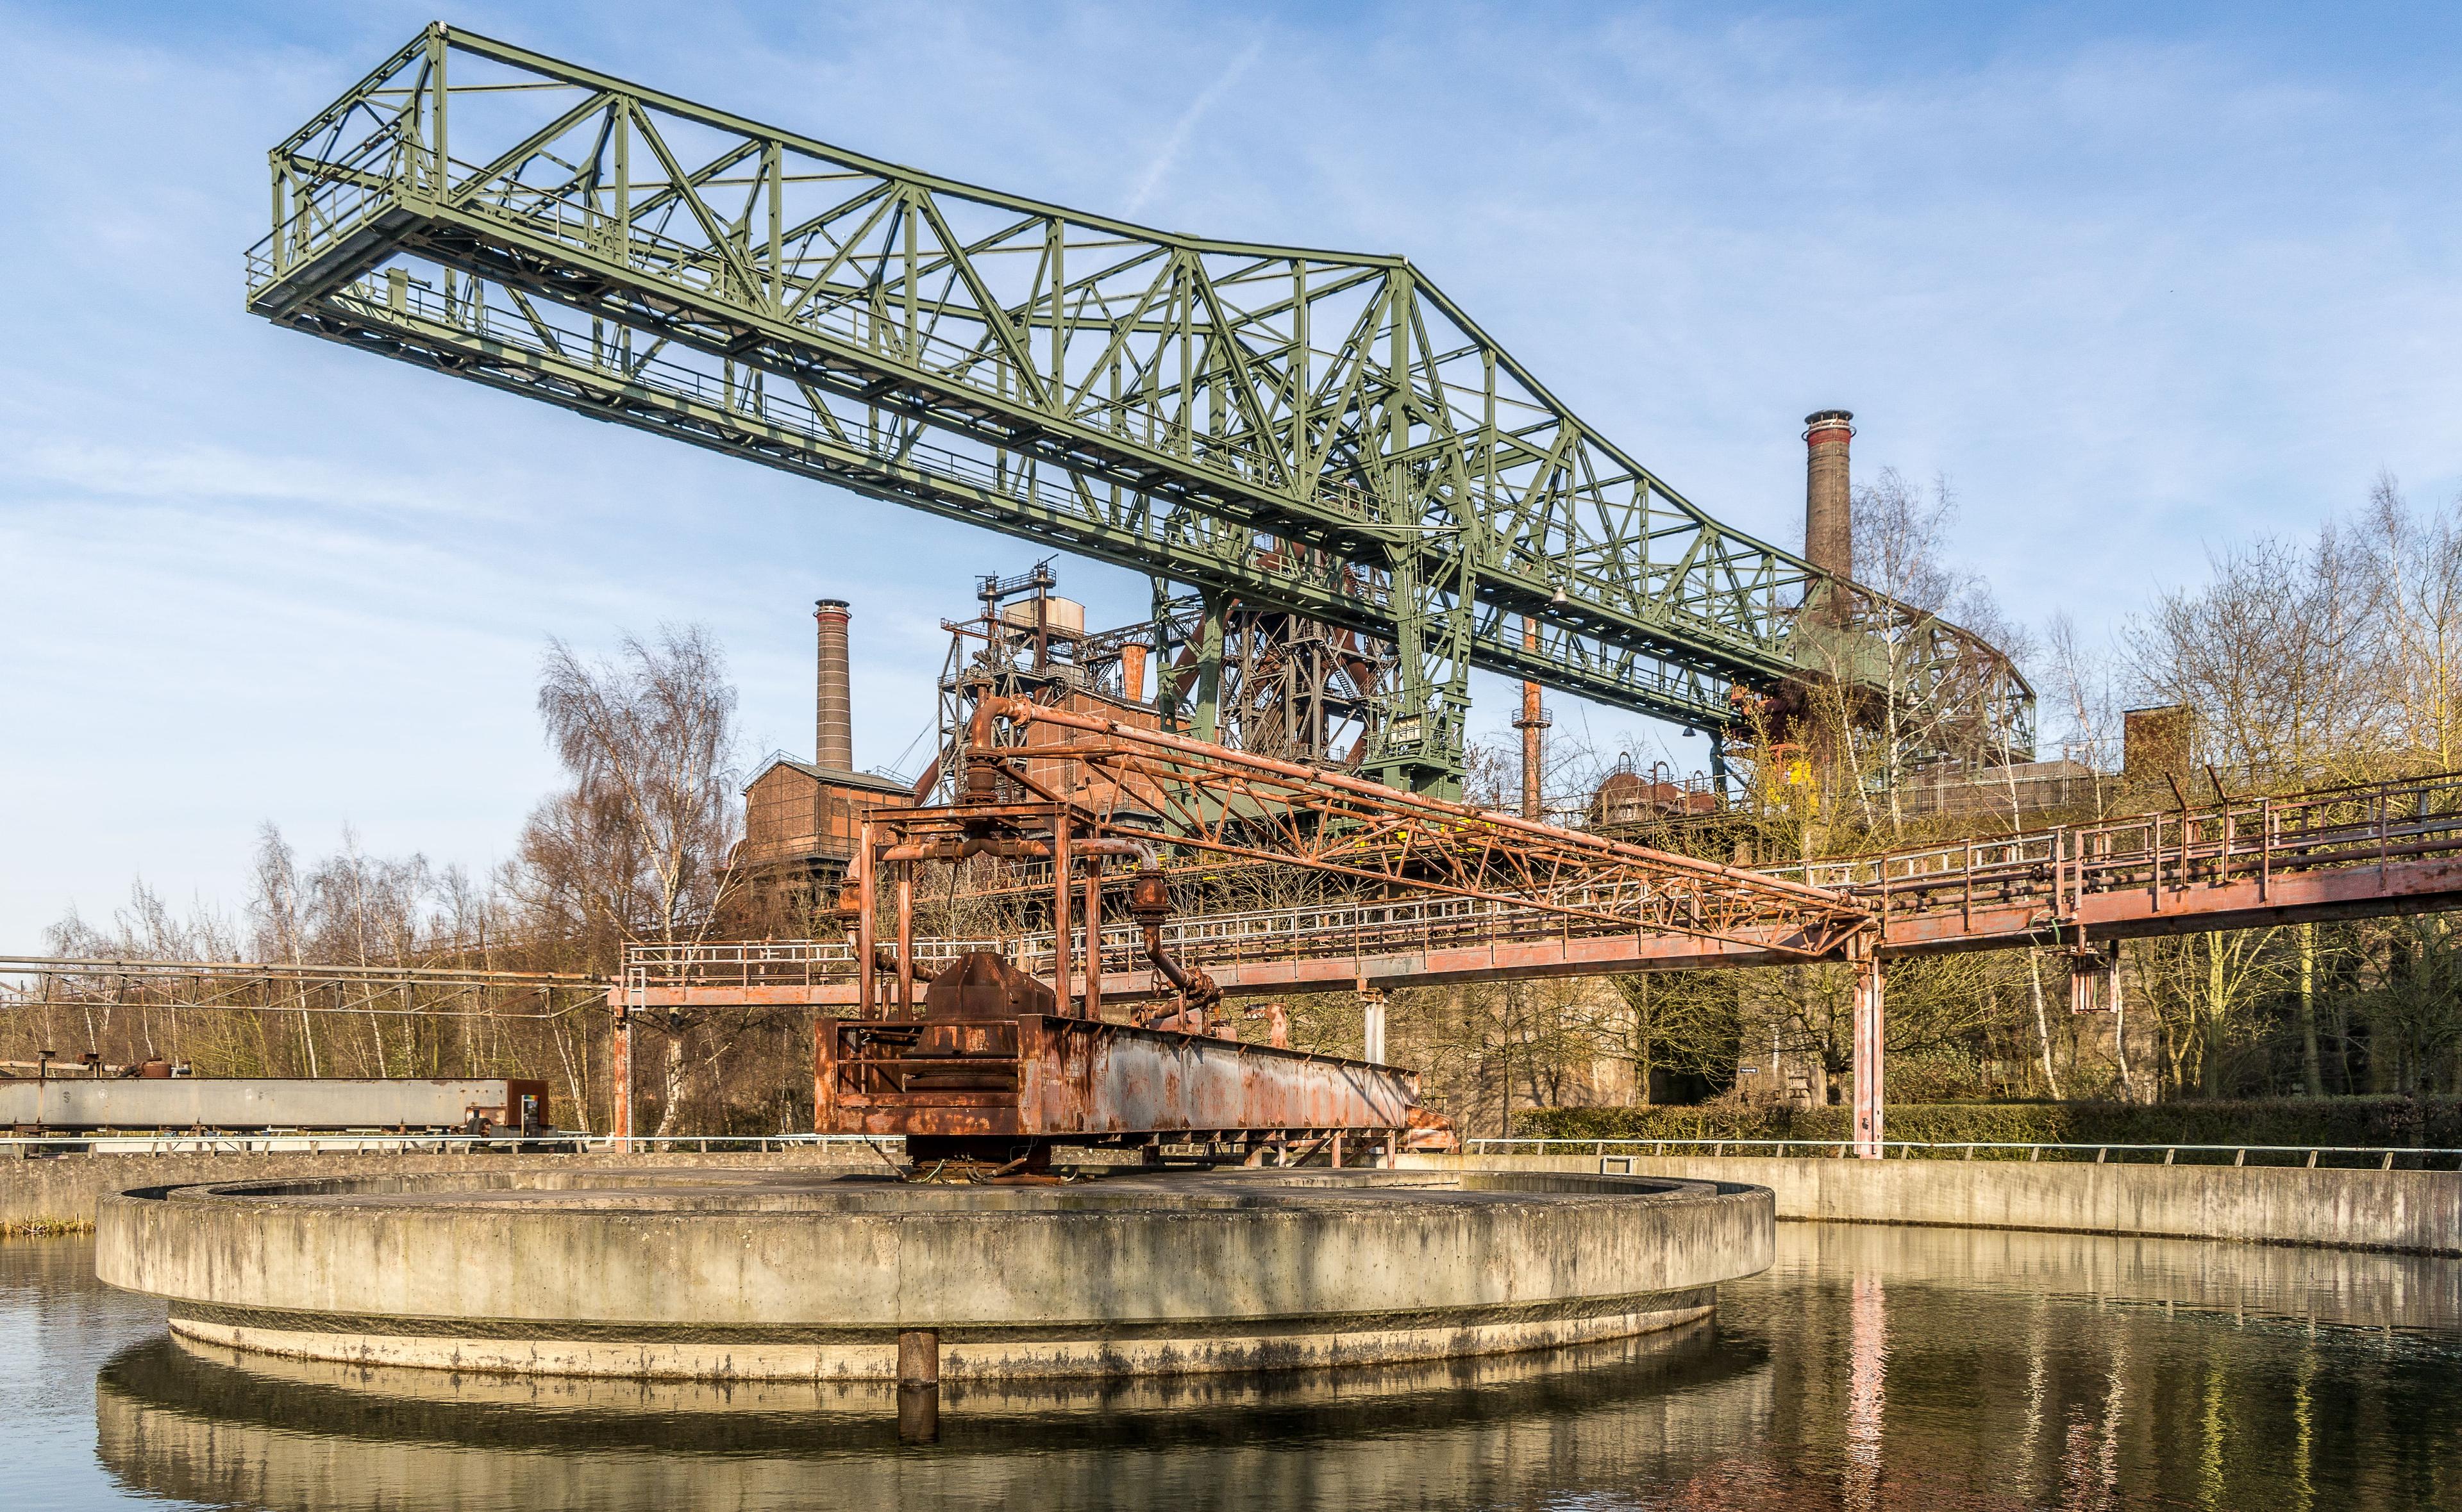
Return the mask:
<path id="1" fill-rule="evenodd" d="M 0 2 L 0 948 L 140 874 L 236 904 L 261 820 L 492 864 L 554 783 L 549 635 L 707 621 L 748 744 L 800 751 L 810 601 L 847 596 L 857 761 L 894 763 L 938 618 L 1039 557 L 244 315 L 263 150 L 431 15 Z M 1849 406 L 1861 475 L 1945 473 L 1960 557 L 2090 638 L 2378 468 L 2462 490 L 2457 17 L 443 15 L 953 177 L 1408 254 L 1608 436 L 1785 544 L 1800 419 Z M 1142 579 L 1061 571 L 1101 621 L 1142 608 Z M 1504 690 L 1480 692 L 1502 729 Z"/>

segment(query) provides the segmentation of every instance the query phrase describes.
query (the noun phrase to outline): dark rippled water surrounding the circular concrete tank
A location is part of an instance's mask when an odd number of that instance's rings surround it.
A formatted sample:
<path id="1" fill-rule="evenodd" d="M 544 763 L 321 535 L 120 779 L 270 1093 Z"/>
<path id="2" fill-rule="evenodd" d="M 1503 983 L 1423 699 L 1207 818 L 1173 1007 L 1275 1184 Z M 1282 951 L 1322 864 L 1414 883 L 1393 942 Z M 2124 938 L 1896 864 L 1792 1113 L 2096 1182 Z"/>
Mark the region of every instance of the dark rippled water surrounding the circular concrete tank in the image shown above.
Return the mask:
<path id="1" fill-rule="evenodd" d="M 199 1352 L 0 1244 L 0 1507 L 2457 1507 L 2462 1263 L 1782 1226 L 1716 1322 L 1174 1391 L 643 1389 Z"/>

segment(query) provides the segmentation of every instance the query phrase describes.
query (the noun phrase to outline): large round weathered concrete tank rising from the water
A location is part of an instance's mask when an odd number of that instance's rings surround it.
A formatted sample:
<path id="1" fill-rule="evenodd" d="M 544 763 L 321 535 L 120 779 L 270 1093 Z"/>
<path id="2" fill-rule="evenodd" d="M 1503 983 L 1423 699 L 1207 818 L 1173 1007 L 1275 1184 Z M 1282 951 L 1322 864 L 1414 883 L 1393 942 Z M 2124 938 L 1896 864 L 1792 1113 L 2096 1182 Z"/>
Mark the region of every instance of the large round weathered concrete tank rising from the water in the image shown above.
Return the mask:
<path id="1" fill-rule="evenodd" d="M 1517 1172 L 473 1172 L 106 1197 L 96 1273 L 271 1354 L 665 1379 L 1391 1364 L 1630 1337 L 1768 1268 L 1768 1189 Z"/>

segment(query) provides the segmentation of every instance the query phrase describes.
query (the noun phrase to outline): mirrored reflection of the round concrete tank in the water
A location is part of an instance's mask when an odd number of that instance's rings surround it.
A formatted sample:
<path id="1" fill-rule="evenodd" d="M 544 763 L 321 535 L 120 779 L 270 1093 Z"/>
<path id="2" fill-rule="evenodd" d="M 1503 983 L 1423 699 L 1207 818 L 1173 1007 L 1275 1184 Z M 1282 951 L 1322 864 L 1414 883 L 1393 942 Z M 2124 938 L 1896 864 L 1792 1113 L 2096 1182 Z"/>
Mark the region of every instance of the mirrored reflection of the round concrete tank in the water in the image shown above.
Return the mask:
<path id="1" fill-rule="evenodd" d="M 167 1337 L 96 1381 L 96 1450 L 130 1490 L 246 1507 L 1211 1507 L 1512 1502 L 1534 1465 L 1618 1487 L 1748 1453 L 1753 1352 L 1682 1337 L 1462 1369 L 1113 1391 L 940 1389 L 901 1448 L 894 1386 L 510 1381 L 246 1357 Z"/>

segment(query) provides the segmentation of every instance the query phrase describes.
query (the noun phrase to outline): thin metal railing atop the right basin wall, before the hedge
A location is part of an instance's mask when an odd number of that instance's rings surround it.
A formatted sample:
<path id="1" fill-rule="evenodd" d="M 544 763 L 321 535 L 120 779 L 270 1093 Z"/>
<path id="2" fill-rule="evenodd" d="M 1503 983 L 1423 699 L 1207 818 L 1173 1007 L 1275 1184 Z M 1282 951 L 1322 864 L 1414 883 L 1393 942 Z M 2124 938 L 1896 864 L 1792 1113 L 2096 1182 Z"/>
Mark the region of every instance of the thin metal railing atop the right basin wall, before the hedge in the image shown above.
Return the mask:
<path id="1" fill-rule="evenodd" d="M 1556 1140 L 1477 1138 L 1465 1155 L 1598 1155 L 1662 1157 L 1709 1155 L 1763 1160 L 1849 1160 L 1854 1140 Z M 2181 1160 L 2186 1155 L 2186 1160 Z M 2462 1170 L 2462 1150 L 2428 1145 L 2122 1145 L 2122 1143 L 2019 1143 L 2019 1140 L 1881 1140 L 1883 1160 L 2026 1160 L 2083 1165 L 2297 1165 L 2304 1170 Z M 2319 1160 L 2329 1157 L 2329 1160 Z M 2442 1162 L 2442 1165 L 2440 1165 Z"/>

